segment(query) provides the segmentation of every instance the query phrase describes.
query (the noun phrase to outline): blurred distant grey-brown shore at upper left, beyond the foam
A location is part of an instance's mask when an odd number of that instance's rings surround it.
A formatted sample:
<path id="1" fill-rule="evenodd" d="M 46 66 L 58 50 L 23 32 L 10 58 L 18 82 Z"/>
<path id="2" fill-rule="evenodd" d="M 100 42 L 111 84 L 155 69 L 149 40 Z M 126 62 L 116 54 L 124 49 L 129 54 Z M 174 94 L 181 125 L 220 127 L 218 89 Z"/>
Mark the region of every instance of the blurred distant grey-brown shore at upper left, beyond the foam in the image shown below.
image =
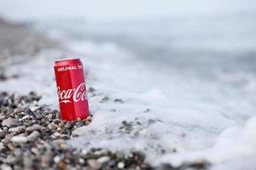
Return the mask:
<path id="1" fill-rule="evenodd" d="M 33 31 L 26 23 L 14 23 L 1 17 L 0 37 L 0 68 L 18 59 L 17 55 L 32 57 L 44 48 L 60 48 L 58 42 Z"/>

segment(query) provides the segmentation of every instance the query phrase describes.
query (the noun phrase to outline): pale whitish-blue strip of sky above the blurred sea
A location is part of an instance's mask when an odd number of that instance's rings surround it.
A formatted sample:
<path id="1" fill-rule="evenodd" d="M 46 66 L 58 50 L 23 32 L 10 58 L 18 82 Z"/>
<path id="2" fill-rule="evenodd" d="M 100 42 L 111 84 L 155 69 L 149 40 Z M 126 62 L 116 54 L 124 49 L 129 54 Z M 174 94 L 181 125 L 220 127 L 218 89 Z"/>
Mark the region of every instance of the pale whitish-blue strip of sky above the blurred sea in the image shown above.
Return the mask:
<path id="1" fill-rule="evenodd" d="M 0 0 L 0 14 L 15 20 L 50 17 L 114 20 L 172 14 L 229 14 L 254 11 L 255 7 L 253 0 Z"/>

